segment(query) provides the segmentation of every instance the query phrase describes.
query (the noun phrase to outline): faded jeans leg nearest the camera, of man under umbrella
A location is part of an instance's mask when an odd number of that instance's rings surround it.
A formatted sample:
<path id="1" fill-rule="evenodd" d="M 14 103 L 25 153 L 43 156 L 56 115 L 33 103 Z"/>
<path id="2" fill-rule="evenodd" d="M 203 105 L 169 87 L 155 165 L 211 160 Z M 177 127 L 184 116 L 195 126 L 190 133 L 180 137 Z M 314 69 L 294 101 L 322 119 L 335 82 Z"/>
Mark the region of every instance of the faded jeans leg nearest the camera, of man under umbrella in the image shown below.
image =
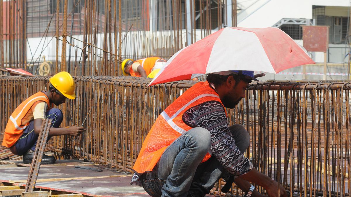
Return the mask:
<path id="1" fill-rule="evenodd" d="M 158 187 L 162 180 L 166 180 L 161 189 L 162 197 L 187 196 L 195 169 L 210 150 L 210 146 L 211 135 L 204 128 L 190 129 L 178 137 L 167 147 L 157 167 L 153 169 L 153 172 L 157 172 L 155 177 L 160 180 L 148 181 L 150 188 Z M 158 195 L 157 192 L 154 193 Z"/>

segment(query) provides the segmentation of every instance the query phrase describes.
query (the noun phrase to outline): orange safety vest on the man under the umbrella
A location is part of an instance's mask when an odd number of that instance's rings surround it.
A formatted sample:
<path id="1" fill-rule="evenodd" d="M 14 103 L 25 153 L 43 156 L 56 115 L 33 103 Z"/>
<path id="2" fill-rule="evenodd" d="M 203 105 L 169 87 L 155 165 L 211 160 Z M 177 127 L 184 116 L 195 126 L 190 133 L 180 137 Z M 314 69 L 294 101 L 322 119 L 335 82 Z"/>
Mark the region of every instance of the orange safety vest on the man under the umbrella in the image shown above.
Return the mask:
<path id="1" fill-rule="evenodd" d="M 134 172 L 142 174 L 152 171 L 166 148 L 179 136 L 192 129 L 183 122 L 185 111 L 207 101 L 218 101 L 223 105 L 216 91 L 206 81 L 196 83 L 170 104 L 158 116 L 147 134 L 133 166 Z M 201 162 L 207 161 L 210 157 L 211 153 L 207 152 Z"/>

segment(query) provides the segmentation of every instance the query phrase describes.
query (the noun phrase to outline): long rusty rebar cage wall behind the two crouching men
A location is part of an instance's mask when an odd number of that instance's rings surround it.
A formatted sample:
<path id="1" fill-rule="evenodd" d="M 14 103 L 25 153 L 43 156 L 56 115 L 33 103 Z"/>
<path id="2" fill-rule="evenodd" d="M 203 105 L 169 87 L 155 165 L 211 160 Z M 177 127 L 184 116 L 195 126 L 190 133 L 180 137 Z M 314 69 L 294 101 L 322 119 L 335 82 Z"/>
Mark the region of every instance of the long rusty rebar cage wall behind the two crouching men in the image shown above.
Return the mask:
<path id="1" fill-rule="evenodd" d="M 76 76 L 77 99 L 65 103 L 65 125 L 86 122 L 71 141 L 54 137 L 58 158 L 85 158 L 113 170 L 132 172 L 147 132 L 158 115 L 195 81 L 147 87 L 150 79 Z M 24 99 L 48 88 L 48 77 L 0 76 L 1 131 Z M 349 82 L 270 81 L 250 85 L 246 97 L 229 109 L 230 124 L 251 136 L 246 156 L 253 166 L 283 184 L 292 196 L 349 196 Z M 63 106 L 60 106 L 63 109 Z M 292 185 L 292 186 L 291 186 Z M 223 180 L 212 190 L 220 195 Z M 263 188 L 258 187 L 261 192 Z M 233 186 L 230 195 L 240 195 Z M 223 196 L 223 194 L 222 194 Z"/>

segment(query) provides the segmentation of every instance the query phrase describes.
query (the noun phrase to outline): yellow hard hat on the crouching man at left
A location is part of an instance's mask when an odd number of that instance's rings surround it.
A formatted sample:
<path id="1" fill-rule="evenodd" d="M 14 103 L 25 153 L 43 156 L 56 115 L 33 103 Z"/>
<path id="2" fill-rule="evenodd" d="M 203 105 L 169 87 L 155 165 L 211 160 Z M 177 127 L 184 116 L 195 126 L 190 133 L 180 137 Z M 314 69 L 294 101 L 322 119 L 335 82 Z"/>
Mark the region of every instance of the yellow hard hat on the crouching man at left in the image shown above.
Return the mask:
<path id="1" fill-rule="evenodd" d="M 66 96 L 68 99 L 75 99 L 74 94 L 74 80 L 71 74 L 63 71 L 52 76 L 49 79 L 52 86 L 57 89 L 62 95 Z"/>

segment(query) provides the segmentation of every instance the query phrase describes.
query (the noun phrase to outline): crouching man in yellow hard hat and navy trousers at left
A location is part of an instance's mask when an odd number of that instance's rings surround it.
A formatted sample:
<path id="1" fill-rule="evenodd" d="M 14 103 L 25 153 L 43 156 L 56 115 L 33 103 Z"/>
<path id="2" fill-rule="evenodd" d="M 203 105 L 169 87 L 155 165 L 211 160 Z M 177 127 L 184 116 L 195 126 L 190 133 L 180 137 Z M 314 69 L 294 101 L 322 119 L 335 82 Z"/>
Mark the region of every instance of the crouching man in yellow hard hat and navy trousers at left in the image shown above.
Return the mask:
<path id="1" fill-rule="evenodd" d="M 2 145 L 15 155 L 23 155 L 23 163 L 32 163 L 41 123 L 45 118 L 52 119 L 49 138 L 58 135 L 78 136 L 85 129 L 72 126 L 59 128 L 62 111 L 54 108 L 75 99 L 74 80 L 67 72 L 60 72 L 49 79 L 49 90 L 39 91 L 23 101 L 11 114 L 7 122 Z M 43 155 L 41 164 L 53 164 L 55 158 Z"/>

